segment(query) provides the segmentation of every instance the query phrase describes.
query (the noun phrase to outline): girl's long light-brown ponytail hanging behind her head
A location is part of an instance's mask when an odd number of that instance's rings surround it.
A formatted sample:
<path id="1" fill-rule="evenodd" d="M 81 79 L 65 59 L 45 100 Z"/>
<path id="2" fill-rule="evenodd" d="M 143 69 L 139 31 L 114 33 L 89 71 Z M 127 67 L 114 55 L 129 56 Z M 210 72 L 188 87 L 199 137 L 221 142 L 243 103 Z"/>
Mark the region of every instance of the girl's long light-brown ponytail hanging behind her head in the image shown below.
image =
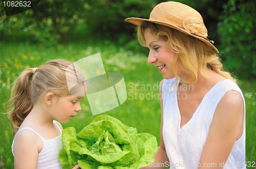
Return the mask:
<path id="1" fill-rule="evenodd" d="M 5 108 L 9 114 L 13 135 L 16 134 L 19 126 L 33 108 L 33 103 L 29 96 L 32 78 L 33 69 L 24 70 L 16 79 L 12 88 L 11 99 L 6 104 Z M 8 111 L 9 108 L 11 109 Z"/>

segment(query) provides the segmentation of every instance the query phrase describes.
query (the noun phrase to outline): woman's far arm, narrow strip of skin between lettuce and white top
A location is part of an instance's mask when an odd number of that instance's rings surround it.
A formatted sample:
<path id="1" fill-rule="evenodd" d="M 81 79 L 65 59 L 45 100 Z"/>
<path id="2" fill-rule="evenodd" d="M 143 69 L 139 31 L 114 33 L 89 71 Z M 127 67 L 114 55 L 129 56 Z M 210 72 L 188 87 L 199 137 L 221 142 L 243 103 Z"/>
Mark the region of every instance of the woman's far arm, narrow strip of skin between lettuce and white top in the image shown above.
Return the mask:
<path id="1" fill-rule="evenodd" d="M 160 127 L 160 146 L 157 149 L 157 153 L 154 157 L 154 163 L 149 163 L 149 166 L 142 167 L 143 169 L 151 169 L 151 168 L 167 168 L 165 167 L 166 164 L 169 164 L 169 159 L 167 157 L 166 151 L 165 151 L 165 145 L 163 142 L 163 97 L 162 97 L 162 85 L 163 85 L 164 79 L 159 84 L 159 100 L 160 100 L 160 106 L 161 106 L 161 127 Z M 156 167 L 157 165 L 161 165 L 162 167 Z M 141 169 L 142 169 L 141 168 Z"/>

